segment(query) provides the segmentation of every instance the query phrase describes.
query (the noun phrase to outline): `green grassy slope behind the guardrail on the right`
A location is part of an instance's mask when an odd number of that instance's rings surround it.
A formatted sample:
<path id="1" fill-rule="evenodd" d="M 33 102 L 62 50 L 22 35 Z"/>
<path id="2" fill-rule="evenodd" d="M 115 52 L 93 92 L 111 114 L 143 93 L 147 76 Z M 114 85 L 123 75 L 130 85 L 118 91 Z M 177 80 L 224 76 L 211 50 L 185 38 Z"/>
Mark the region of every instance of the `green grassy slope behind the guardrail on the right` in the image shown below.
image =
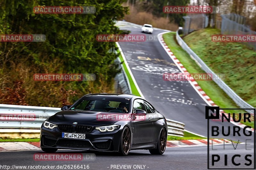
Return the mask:
<path id="1" fill-rule="evenodd" d="M 202 29 L 188 34 L 184 41 L 215 73 L 225 74 L 224 82 L 236 94 L 256 107 L 256 51 L 237 42 L 212 42 L 217 29 Z"/>

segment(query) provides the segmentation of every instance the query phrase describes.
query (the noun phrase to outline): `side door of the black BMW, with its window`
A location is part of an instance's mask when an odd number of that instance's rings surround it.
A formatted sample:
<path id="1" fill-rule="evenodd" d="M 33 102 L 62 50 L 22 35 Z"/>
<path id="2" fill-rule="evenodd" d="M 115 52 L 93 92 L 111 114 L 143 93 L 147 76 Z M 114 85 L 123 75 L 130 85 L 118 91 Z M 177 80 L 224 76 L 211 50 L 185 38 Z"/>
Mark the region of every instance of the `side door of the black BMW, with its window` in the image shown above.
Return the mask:
<path id="1" fill-rule="evenodd" d="M 144 105 L 144 101 L 141 99 L 136 99 L 133 101 L 133 109 L 141 109 L 147 112 Z M 134 144 L 146 144 L 150 143 L 153 124 L 149 119 L 149 115 L 139 116 L 134 115 Z"/>

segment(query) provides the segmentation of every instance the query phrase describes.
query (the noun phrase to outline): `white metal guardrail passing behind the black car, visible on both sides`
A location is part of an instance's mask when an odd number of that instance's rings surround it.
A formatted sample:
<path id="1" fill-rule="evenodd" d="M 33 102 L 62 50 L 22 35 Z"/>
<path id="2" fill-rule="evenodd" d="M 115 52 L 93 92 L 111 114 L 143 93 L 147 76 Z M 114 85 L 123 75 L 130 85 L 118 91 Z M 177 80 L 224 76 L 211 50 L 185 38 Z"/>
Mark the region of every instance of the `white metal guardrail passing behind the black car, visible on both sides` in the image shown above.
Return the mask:
<path id="1" fill-rule="evenodd" d="M 57 107 L 0 104 L 0 133 L 22 133 L 23 131 L 35 133 L 35 129 L 40 129 L 45 119 L 60 111 L 60 108 Z M 31 115 L 32 119 L 17 120 L 17 115 Z M 170 119 L 166 120 L 168 135 L 182 137 L 185 124 Z"/>

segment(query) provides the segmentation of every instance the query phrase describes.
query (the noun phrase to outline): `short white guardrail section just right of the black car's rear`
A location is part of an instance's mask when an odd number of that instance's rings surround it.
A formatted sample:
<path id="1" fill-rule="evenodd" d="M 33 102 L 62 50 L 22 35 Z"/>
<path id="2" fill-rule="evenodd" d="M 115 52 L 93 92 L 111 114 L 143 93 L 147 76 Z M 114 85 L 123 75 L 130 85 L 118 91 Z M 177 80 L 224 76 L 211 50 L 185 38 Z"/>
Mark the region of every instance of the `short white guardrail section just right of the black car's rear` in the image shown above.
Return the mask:
<path id="1" fill-rule="evenodd" d="M 168 126 L 168 135 L 177 136 L 177 137 L 184 136 L 184 129 L 185 129 L 184 123 L 170 120 L 170 119 L 166 119 L 166 122 Z"/>

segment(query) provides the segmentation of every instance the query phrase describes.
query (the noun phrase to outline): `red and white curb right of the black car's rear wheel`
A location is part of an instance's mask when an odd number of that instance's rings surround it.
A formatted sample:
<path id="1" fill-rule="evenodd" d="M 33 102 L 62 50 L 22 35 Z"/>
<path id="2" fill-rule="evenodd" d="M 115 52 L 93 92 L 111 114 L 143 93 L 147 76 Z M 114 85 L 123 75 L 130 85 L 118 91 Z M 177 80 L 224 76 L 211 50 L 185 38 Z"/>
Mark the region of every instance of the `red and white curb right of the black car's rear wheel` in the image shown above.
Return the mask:
<path id="1" fill-rule="evenodd" d="M 223 139 L 210 139 L 210 145 L 231 144 L 232 142 Z M 190 139 L 190 140 L 169 140 L 166 147 L 190 147 L 190 146 L 207 146 L 207 139 Z"/>

